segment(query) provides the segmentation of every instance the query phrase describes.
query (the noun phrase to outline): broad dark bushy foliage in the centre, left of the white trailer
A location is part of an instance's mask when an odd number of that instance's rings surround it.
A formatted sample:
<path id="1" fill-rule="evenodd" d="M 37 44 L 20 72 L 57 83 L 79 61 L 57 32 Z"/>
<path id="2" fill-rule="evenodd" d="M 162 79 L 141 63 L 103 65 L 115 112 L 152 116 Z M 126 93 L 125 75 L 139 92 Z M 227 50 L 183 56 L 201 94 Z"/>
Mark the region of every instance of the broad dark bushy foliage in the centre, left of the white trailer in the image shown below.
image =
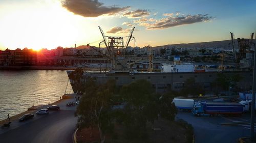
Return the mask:
<path id="1" fill-rule="evenodd" d="M 137 80 L 123 85 L 119 98 L 124 108 L 116 110 L 116 121 L 126 127 L 126 138 L 146 138 L 146 125 L 158 119 L 173 121 L 177 113 L 172 103 L 174 96 L 165 94 L 160 97 L 153 93 L 152 84 L 147 80 Z"/>

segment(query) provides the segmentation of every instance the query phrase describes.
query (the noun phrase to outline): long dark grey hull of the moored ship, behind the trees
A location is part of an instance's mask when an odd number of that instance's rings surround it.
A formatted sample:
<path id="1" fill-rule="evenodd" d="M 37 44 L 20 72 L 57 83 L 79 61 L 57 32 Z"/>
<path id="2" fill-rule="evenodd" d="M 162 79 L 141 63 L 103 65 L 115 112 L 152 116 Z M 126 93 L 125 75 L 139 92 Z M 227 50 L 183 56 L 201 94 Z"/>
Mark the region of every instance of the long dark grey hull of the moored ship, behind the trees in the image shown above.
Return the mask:
<path id="1" fill-rule="evenodd" d="M 67 71 L 68 76 L 72 71 Z M 164 73 L 164 72 L 116 72 L 116 73 L 96 73 L 84 71 L 84 78 L 94 77 L 98 83 L 105 83 L 110 79 L 116 81 L 117 86 L 129 84 L 135 80 L 145 79 L 153 84 L 156 92 L 167 91 L 180 91 L 184 88 L 184 83 L 188 78 L 194 78 L 197 84 L 201 84 L 205 91 L 214 90 L 211 83 L 216 81 L 218 74 L 240 75 L 241 81 L 238 83 L 238 87 L 243 90 L 250 90 L 252 88 L 252 71 L 223 71 L 223 72 L 176 72 L 176 73 Z M 70 76 L 69 76 L 70 78 Z M 71 81 L 72 82 L 72 81 Z M 74 93 L 76 92 L 73 87 Z"/>

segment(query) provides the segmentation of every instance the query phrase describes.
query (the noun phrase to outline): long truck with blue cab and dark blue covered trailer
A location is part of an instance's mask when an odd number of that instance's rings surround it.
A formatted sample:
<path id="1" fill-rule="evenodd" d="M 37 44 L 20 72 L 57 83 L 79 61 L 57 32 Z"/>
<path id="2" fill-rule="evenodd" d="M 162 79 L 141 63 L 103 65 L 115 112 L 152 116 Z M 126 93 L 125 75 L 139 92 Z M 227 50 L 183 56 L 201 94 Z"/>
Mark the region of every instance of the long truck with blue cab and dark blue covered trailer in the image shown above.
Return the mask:
<path id="1" fill-rule="evenodd" d="M 192 113 L 195 116 L 242 115 L 243 106 L 240 103 L 196 102 Z"/>

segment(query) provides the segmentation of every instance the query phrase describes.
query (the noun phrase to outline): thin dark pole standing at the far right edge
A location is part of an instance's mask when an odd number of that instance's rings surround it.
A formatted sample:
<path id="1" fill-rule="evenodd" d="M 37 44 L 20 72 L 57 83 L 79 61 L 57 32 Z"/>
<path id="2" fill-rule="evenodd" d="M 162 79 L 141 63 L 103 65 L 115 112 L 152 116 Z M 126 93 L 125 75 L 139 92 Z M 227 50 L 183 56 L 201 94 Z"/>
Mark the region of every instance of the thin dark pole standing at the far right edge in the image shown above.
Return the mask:
<path id="1" fill-rule="evenodd" d="M 256 36 L 255 36 L 256 40 Z M 253 64 L 253 82 L 252 82 L 252 101 L 251 101 L 251 131 L 250 138 L 254 138 L 254 117 L 255 117 L 255 86 L 256 86 L 256 44 L 254 44 L 254 64 Z"/>

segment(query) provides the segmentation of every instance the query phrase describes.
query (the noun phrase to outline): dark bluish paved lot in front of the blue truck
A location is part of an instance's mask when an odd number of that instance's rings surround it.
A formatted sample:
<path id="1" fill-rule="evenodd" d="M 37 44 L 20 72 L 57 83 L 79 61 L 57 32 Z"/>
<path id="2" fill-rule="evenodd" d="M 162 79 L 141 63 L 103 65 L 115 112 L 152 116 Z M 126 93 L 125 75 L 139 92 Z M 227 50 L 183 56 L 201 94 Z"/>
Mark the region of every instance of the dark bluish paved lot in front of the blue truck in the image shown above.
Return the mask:
<path id="1" fill-rule="evenodd" d="M 194 127 L 196 143 L 227 142 L 237 143 L 239 137 L 249 136 L 249 129 L 241 125 L 222 126 L 221 123 L 232 123 L 248 119 L 248 115 L 228 120 L 226 117 L 194 117 L 190 112 L 179 111 L 177 119 L 183 119 Z M 230 118 L 231 119 L 231 118 Z"/>

